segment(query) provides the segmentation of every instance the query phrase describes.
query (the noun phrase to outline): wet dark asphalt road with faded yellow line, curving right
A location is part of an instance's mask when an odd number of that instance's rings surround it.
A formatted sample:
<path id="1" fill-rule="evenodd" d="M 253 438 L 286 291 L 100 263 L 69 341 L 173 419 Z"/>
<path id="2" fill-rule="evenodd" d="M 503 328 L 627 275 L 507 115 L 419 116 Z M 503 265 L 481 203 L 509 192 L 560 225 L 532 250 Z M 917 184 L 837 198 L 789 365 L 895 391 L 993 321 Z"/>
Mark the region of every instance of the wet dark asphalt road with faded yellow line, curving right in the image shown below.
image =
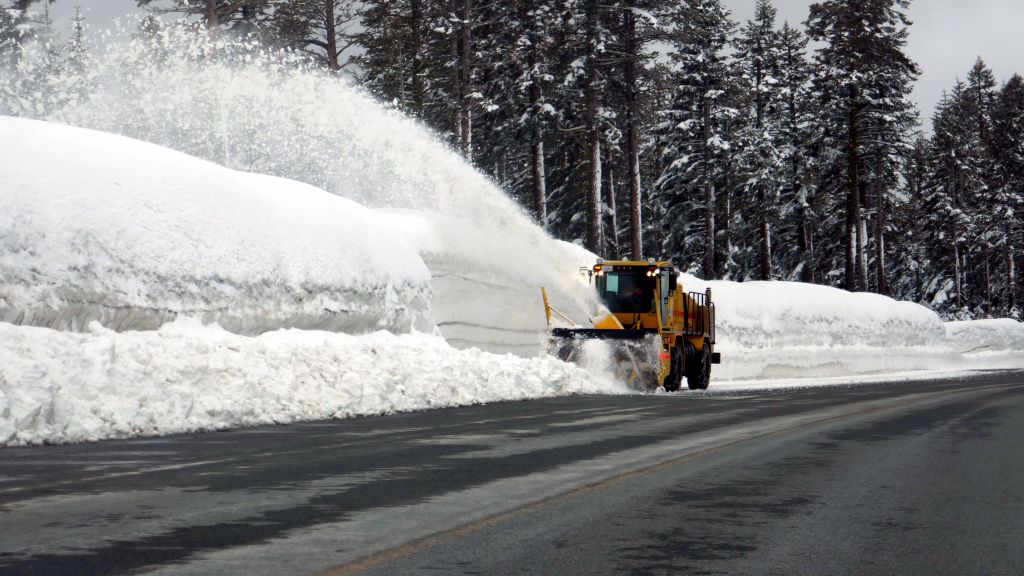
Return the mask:
<path id="1" fill-rule="evenodd" d="M 1019 574 L 1024 374 L 0 449 L 0 574 Z"/>

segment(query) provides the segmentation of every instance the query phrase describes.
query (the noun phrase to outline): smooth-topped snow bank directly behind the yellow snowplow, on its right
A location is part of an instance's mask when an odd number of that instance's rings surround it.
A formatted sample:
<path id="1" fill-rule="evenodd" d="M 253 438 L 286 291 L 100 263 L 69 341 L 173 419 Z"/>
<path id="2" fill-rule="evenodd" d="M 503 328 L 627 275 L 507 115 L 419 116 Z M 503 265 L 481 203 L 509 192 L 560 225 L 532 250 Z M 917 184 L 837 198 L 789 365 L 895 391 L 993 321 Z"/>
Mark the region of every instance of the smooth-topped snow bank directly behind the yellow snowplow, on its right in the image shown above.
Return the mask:
<path id="1" fill-rule="evenodd" d="M 932 311 L 878 294 L 792 282 L 703 282 L 712 289 L 722 364 L 715 379 L 841 376 L 954 366 Z"/>

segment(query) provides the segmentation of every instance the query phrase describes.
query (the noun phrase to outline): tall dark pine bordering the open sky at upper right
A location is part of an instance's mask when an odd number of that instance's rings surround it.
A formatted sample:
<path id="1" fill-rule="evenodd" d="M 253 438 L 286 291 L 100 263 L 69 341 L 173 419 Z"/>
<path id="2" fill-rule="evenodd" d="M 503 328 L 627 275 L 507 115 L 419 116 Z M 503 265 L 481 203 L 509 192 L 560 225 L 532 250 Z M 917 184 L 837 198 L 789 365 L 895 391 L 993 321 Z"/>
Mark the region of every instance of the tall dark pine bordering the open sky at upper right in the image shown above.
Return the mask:
<path id="1" fill-rule="evenodd" d="M 907 97 L 920 74 L 904 53 L 910 22 L 909 0 L 825 0 L 811 5 L 807 22 L 818 51 L 817 84 L 828 105 L 828 122 L 843 127 L 846 163 L 845 282 L 849 290 L 868 288 L 868 184 L 876 194 L 878 288 L 885 291 L 885 194 L 892 186 L 893 159 L 913 128 Z M 867 145 L 872 142 L 872 146 Z M 880 210 L 881 208 L 881 210 Z M 877 271 L 879 269 L 877 268 Z"/>

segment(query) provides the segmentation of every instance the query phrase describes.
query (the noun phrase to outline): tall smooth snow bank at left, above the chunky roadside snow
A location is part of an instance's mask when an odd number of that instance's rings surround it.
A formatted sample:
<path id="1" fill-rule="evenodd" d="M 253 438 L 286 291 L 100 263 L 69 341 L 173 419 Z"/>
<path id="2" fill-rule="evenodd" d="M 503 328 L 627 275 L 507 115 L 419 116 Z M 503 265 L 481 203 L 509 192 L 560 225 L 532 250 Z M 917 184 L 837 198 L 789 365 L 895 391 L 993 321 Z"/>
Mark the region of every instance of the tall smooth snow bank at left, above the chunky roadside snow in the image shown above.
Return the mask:
<path id="1" fill-rule="evenodd" d="M 0 133 L 2 321 L 431 329 L 423 261 L 354 202 L 92 130 L 0 117 Z"/>

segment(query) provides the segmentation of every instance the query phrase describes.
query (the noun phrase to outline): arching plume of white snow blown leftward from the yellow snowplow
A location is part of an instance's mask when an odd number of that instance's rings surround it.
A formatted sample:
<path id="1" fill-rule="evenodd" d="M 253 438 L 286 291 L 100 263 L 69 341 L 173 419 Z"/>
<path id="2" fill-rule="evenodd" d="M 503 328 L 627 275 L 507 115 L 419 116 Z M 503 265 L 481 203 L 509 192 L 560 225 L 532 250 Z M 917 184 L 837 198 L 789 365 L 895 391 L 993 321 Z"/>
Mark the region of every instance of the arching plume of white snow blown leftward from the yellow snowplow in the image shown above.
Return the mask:
<path id="1" fill-rule="evenodd" d="M 424 242 L 434 321 L 456 345 L 537 354 L 541 286 L 586 322 L 575 271 L 590 256 L 552 242 L 416 121 L 289 51 L 212 42 L 186 26 L 112 39 L 125 36 L 93 42 L 80 74 L 43 71 L 32 64 L 40 57 L 0 72 L 0 114 L 124 134 L 403 211 L 394 234 Z M 467 305 L 470 296 L 481 303 Z"/>

